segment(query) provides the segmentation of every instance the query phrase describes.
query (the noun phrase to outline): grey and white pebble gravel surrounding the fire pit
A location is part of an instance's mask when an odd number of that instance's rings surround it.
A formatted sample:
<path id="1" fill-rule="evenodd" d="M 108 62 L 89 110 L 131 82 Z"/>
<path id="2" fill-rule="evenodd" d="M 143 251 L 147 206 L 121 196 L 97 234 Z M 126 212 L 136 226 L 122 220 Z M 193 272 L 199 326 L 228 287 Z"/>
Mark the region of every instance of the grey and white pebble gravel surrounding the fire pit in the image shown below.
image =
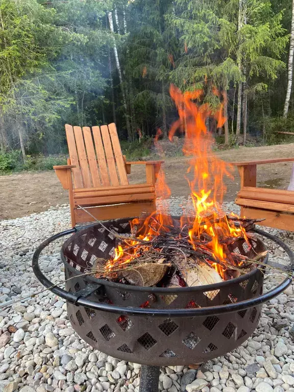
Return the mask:
<path id="1" fill-rule="evenodd" d="M 171 198 L 165 206 L 175 215 L 190 201 Z M 238 213 L 233 203 L 225 205 Z M 51 292 L 41 292 L 31 259 L 46 237 L 69 228 L 68 206 L 0 222 L 0 392 L 138 392 L 140 365 L 119 361 L 93 350 L 72 330 L 66 304 Z M 290 232 L 268 229 L 292 249 Z M 61 242 L 47 248 L 41 267 L 53 282 L 62 280 Z M 271 257 L 283 264 L 282 248 L 268 245 Z M 264 287 L 281 275 L 269 271 Z M 34 298 L 27 298 L 34 295 Z M 263 306 L 258 328 L 239 348 L 208 361 L 200 370 L 186 366 L 161 369 L 160 391 L 294 392 L 294 295 L 292 286 Z M 1 309 L 0 309 L 1 310 Z"/>

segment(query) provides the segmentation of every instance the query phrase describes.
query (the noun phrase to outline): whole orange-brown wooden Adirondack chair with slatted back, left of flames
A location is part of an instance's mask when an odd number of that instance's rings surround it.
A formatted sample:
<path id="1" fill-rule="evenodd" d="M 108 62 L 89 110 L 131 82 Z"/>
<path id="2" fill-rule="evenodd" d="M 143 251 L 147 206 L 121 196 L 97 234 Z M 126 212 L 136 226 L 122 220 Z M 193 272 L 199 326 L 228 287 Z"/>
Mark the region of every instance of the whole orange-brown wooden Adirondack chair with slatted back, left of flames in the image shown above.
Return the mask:
<path id="1" fill-rule="evenodd" d="M 95 218 L 132 217 L 156 210 L 155 182 L 163 161 L 126 162 L 115 124 L 92 130 L 66 124 L 65 131 L 70 158 L 67 165 L 53 168 L 69 192 L 72 227 Z M 129 184 L 127 174 L 134 164 L 146 166 L 145 183 Z"/>

